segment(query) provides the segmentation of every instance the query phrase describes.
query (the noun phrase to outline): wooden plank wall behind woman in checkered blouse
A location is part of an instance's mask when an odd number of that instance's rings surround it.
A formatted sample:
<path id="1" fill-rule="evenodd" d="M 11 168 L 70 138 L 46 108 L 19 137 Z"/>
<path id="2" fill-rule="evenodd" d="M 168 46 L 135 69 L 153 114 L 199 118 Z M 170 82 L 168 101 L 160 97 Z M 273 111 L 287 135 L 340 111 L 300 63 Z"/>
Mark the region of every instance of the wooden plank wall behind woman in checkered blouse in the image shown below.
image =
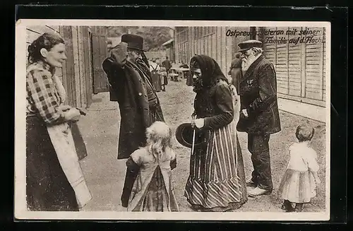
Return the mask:
<path id="1" fill-rule="evenodd" d="M 66 103 L 74 107 L 89 107 L 92 94 L 108 90 L 102 61 L 107 57 L 106 33 L 88 26 L 30 26 L 27 45 L 44 32 L 59 33 L 66 44 L 66 61 L 56 75 L 66 90 Z"/>

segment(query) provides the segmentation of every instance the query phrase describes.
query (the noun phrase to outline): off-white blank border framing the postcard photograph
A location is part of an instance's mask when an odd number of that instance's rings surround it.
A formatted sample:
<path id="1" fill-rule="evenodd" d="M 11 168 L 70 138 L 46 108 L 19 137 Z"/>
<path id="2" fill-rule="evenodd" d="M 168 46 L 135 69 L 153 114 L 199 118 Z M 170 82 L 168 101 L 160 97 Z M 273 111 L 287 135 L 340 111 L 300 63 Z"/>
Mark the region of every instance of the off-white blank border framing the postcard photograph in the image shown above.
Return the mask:
<path id="1" fill-rule="evenodd" d="M 90 25 L 90 26 L 310 26 L 326 28 L 326 189 L 324 213 L 133 213 L 133 212 L 34 212 L 25 208 L 25 69 L 26 27 L 29 25 Z M 20 19 L 16 23 L 15 51 L 15 218 L 76 219 L 76 220 L 329 220 L 330 219 L 330 23 L 309 21 L 220 21 L 220 20 L 51 20 Z"/>

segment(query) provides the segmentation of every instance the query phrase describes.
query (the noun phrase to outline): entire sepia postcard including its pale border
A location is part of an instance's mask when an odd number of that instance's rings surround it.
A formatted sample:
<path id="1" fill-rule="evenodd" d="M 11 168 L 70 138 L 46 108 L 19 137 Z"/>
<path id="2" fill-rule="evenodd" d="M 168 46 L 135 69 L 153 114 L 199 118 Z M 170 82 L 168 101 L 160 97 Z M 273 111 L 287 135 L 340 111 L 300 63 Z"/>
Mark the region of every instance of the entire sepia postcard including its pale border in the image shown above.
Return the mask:
<path id="1" fill-rule="evenodd" d="M 20 19 L 15 141 L 17 219 L 329 220 L 330 23 Z"/>

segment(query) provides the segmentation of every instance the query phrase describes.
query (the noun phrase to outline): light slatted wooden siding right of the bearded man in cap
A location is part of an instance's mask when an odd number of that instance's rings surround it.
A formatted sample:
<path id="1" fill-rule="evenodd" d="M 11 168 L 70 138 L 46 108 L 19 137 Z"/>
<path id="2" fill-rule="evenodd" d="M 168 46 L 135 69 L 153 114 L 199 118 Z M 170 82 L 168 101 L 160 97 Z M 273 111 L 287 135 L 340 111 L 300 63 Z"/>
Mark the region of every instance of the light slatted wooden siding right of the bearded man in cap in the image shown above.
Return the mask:
<path id="1" fill-rule="evenodd" d="M 325 36 L 324 28 L 266 28 L 270 30 L 319 30 L 313 39 Z M 309 35 L 275 35 L 273 39 L 285 37 L 306 38 Z M 277 93 L 290 100 L 307 102 L 325 107 L 325 40 L 318 43 L 271 44 L 263 40 L 264 54 L 277 72 Z"/>

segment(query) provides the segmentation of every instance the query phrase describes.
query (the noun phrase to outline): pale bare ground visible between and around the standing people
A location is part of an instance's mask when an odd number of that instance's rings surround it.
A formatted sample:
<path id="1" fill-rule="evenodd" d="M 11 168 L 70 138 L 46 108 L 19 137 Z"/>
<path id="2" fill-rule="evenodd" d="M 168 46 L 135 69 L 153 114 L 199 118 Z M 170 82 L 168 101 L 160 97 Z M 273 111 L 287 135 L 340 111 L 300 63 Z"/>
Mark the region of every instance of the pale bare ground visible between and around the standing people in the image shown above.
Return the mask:
<path id="1" fill-rule="evenodd" d="M 191 119 L 194 93 L 191 87 L 181 82 L 169 81 L 167 92 L 158 93 L 167 124 L 176 127 Z M 88 109 L 88 115 L 78 122 L 83 134 L 88 157 L 81 161 L 85 179 L 92 192 L 93 199 L 84 211 L 126 211 L 121 207 L 120 196 L 125 177 L 125 161 L 116 160 L 116 150 L 119 131 L 119 109 L 116 102 L 109 102 L 109 94 L 97 95 L 97 100 Z M 273 184 L 275 191 L 270 196 L 261 196 L 249 199 L 238 211 L 268 211 L 281 212 L 280 199 L 276 196 L 277 186 L 285 171 L 289 154 L 287 146 L 295 141 L 295 128 L 300 122 L 308 122 L 316 128 L 313 138 L 313 148 L 318 152 L 318 161 L 321 166 L 319 176 L 322 184 L 318 186 L 318 196 L 304 211 L 325 210 L 325 124 L 315 122 L 287 112 L 280 112 L 282 131 L 271 136 L 270 155 L 273 170 Z M 239 141 L 244 156 L 246 176 L 252 170 L 251 158 L 246 150 L 246 134 L 239 133 Z M 191 211 L 184 198 L 184 186 L 189 174 L 189 148 L 179 145 L 174 139 L 177 152 L 178 166 L 173 170 L 174 188 L 179 200 L 181 211 Z"/>

